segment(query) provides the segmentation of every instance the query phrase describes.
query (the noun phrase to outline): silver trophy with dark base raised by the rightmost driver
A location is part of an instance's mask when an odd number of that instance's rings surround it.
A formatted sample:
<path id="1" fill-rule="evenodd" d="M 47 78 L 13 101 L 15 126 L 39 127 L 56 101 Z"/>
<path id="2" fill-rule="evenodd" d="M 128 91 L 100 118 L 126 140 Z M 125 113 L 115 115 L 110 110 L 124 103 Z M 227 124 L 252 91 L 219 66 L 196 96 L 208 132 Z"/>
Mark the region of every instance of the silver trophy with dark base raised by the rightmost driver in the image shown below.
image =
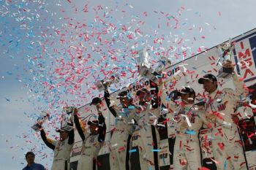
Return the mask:
<path id="1" fill-rule="evenodd" d="M 218 46 L 219 59 L 217 61 L 217 65 L 219 64 L 219 62 L 221 62 L 222 68 L 219 69 L 217 77 L 228 79 L 233 75 L 232 61 L 230 60 L 233 48 L 234 46 L 231 43 L 231 39 L 229 40 L 229 42 Z"/>

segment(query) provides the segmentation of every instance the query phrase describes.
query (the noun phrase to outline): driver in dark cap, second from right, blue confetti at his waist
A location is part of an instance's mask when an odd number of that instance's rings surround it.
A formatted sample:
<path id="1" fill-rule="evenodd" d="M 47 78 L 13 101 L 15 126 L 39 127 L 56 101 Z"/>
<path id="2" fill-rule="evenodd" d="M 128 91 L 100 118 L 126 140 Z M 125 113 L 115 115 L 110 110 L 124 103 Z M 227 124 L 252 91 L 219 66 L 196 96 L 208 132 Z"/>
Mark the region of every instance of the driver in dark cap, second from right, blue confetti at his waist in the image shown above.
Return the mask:
<path id="1" fill-rule="evenodd" d="M 204 107 L 194 104 L 195 91 L 190 87 L 181 89 L 174 101 L 165 93 L 165 88 L 160 83 L 162 90 L 161 101 L 170 114 L 168 131 L 176 131 L 176 141 L 173 150 L 173 169 L 200 169 L 200 144 L 198 133 L 203 123 L 206 123 Z"/>

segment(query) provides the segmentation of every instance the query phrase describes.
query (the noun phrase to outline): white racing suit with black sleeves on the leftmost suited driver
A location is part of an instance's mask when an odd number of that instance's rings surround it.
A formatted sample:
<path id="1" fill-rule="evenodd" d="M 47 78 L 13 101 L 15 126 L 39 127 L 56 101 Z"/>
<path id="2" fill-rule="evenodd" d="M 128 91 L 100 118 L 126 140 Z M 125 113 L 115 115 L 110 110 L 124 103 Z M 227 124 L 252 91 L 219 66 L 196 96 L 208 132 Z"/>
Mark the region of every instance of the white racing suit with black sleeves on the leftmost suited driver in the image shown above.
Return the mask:
<path id="1" fill-rule="evenodd" d="M 54 152 L 51 170 L 69 170 L 70 152 L 74 145 L 74 130 L 69 132 L 69 138 L 64 141 L 48 139 L 44 130 L 41 130 L 41 137 L 45 144 Z"/>

